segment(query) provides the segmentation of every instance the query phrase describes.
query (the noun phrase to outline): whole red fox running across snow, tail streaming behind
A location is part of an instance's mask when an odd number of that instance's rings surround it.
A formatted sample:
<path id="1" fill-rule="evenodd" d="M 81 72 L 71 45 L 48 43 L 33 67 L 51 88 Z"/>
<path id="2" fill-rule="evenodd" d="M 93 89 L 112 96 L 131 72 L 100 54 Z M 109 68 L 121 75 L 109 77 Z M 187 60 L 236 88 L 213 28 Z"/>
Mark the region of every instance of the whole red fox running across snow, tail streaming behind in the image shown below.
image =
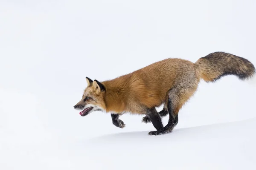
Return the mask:
<path id="1" fill-rule="evenodd" d="M 255 74 L 253 64 L 224 52 L 211 53 L 193 63 L 184 59 L 164 59 L 116 79 L 99 82 L 86 77 L 87 88 L 74 108 L 81 116 L 93 111 L 111 113 L 115 126 L 123 128 L 123 113 L 144 114 L 142 122 L 152 122 L 157 131 L 149 135 L 171 133 L 178 123 L 180 108 L 195 93 L 200 79 L 215 82 L 226 75 L 244 80 Z M 157 113 L 156 107 L 163 104 Z M 163 127 L 162 118 L 169 114 Z"/>

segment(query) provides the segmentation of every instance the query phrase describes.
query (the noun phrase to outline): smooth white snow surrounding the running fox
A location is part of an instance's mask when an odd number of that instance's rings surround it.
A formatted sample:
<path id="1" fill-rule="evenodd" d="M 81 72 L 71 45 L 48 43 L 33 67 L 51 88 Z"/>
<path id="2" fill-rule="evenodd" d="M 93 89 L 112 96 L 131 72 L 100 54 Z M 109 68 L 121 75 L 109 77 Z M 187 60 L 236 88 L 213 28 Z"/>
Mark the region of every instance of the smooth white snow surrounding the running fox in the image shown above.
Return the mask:
<path id="1" fill-rule="evenodd" d="M 73 109 L 85 77 L 226 51 L 256 65 L 253 1 L 1 1 L 1 170 L 256 169 L 256 77 L 201 82 L 172 133 Z M 160 111 L 162 108 L 157 108 Z M 168 117 L 163 118 L 166 125 Z"/>

